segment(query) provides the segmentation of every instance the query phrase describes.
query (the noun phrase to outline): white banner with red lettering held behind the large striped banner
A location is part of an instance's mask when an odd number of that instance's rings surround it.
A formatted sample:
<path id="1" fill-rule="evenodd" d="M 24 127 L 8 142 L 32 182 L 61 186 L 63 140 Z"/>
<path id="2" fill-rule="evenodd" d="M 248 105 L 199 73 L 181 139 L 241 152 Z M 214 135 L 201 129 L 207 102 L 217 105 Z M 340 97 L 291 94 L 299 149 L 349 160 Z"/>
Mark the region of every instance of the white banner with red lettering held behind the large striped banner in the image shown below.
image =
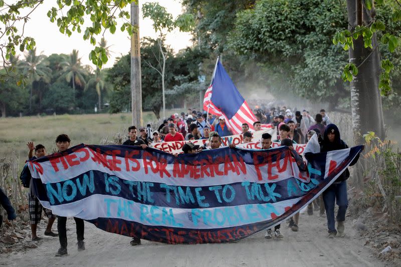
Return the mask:
<path id="1" fill-rule="evenodd" d="M 269 124 L 268 126 L 271 126 L 271 124 Z M 269 133 L 273 136 L 272 137 L 273 140 L 276 139 L 277 134 L 276 134 L 275 128 L 269 127 L 264 130 L 253 132 L 252 133 L 252 141 L 254 143 L 259 143 L 259 141 L 262 137 L 262 134 L 264 134 L 264 133 Z M 240 144 L 242 144 L 243 139 L 244 139 L 244 137 L 242 134 L 223 136 L 222 137 L 222 146 L 228 146 L 230 144 L 240 145 Z M 164 152 L 168 152 L 168 153 L 172 153 L 172 154 L 175 154 L 175 153 L 179 154 L 179 153 L 182 153 L 182 146 L 187 142 L 192 142 L 195 145 L 203 146 L 204 144 L 209 142 L 209 140 L 208 139 L 200 139 L 200 140 L 161 142 L 161 143 L 152 144 L 151 147 L 159 149 Z M 249 147 L 249 148 L 251 148 L 251 147 Z"/>

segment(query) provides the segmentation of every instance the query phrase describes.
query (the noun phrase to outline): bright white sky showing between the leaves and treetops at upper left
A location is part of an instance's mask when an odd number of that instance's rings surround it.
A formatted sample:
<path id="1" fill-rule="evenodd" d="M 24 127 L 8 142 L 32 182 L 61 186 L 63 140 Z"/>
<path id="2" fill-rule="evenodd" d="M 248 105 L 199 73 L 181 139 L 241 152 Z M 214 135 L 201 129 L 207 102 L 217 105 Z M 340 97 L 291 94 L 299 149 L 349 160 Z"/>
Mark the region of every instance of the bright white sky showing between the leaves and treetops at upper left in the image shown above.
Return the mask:
<path id="1" fill-rule="evenodd" d="M 167 9 L 167 12 L 172 14 L 173 18 L 182 13 L 181 4 L 177 0 L 139 0 L 140 8 L 143 3 L 146 2 L 158 2 L 161 6 Z M 57 28 L 57 24 L 51 23 L 47 17 L 47 12 L 53 6 L 56 6 L 55 0 L 44 1 L 44 3 L 31 15 L 31 20 L 25 27 L 26 35 L 35 38 L 37 47 L 36 51 L 39 53 L 42 52 L 44 55 L 49 56 L 53 53 L 70 54 L 73 49 L 77 49 L 79 51 L 82 64 L 94 67 L 89 60 L 89 53 L 94 47 L 89 43 L 88 40 L 83 40 L 82 36 L 84 28 L 81 34 L 73 32 L 70 37 L 60 33 L 59 29 Z M 127 7 L 126 10 L 130 11 L 130 7 Z M 89 18 L 86 18 L 85 21 L 91 23 Z M 107 45 L 111 46 L 110 51 L 112 52 L 109 61 L 106 65 L 104 65 L 105 68 L 113 66 L 116 57 L 126 55 L 130 50 L 131 43 L 128 33 L 122 33 L 120 30 L 123 22 L 117 21 L 117 23 L 120 26 L 117 26 L 117 30 L 114 35 L 110 34 L 109 31 L 105 33 Z M 140 38 L 155 38 L 156 36 L 152 28 L 152 21 L 150 19 L 143 19 L 141 12 L 139 13 L 139 35 Z M 97 41 L 100 41 L 100 39 L 101 36 L 97 38 Z M 166 36 L 166 44 L 169 45 L 174 52 L 178 52 L 180 49 L 191 46 L 192 42 L 190 40 L 191 35 L 189 33 L 180 33 L 179 30 L 174 30 Z"/>

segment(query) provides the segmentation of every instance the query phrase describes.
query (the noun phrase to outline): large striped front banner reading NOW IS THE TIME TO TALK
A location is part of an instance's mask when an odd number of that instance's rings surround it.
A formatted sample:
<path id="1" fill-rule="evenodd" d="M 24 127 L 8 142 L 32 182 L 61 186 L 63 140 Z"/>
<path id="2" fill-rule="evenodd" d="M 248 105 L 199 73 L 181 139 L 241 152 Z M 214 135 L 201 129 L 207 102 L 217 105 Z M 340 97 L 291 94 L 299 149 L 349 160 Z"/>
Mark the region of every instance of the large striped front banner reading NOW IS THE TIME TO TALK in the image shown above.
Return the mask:
<path id="1" fill-rule="evenodd" d="M 313 154 L 306 168 L 288 147 L 173 156 L 81 144 L 29 168 L 38 198 L 57 215 L 130 237 L 194 244 L 238 240 L 282 222 L 334 182 L 362 148 Z"/>

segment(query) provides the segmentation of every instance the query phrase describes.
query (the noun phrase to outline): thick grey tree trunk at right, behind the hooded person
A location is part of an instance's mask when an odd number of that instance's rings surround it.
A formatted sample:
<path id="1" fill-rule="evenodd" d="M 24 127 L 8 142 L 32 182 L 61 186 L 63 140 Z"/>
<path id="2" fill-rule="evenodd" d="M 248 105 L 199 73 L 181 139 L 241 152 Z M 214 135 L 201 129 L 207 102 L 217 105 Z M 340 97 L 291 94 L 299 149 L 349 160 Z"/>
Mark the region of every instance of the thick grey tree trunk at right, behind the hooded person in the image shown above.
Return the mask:
<path id="1" fill-rule="evenodd" d="M 370 12 L 363 11 L 361 0 L 348 0 L 347 11 L 350 31 L 371 21 L 370 16 L 366 16 Z M 363 142 L 362 135 L 368 131 L 373 131 L 382 140 L 385 137 L 378 89 L 381 69 L 377 45 L 376 34 L 373 34 L 373 49 L 364 48 L 362 36 L 354 41 L 354 49 L 349 49 L 349 62 L 359 69 L 351 82 L 352 128 L 356 144 Z"/>

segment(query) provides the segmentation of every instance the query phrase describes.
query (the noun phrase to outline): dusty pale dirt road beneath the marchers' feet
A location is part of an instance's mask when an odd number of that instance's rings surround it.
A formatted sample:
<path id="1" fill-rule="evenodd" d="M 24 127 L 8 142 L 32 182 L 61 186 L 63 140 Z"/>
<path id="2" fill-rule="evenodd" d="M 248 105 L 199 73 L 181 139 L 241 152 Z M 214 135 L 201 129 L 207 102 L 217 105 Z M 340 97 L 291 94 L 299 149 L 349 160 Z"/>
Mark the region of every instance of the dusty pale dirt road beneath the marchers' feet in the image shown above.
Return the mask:
<path id="1" fill-rule="evenodd" d="M 301 214 L 299 232 L 282 225 L 282 240 L 265 239 L 260 232 L 235 243 L 167 245 L 108 233 L 85 222 L 85 251 L 77 251 L 75 224 L 68 220 L 68 256 L 55 257 L 56 237 L 44 236 L 38 248 L 0 255 L 7 266 L 384 266 L 347 221 L 346 236 L 327 238 L 326 218 Z M 41 224 L 42 225 L 42 224 Z M 54 226 L 54 228 L 56 228 Z M 43 233 L 43 226 L 38 231 Z"/>

